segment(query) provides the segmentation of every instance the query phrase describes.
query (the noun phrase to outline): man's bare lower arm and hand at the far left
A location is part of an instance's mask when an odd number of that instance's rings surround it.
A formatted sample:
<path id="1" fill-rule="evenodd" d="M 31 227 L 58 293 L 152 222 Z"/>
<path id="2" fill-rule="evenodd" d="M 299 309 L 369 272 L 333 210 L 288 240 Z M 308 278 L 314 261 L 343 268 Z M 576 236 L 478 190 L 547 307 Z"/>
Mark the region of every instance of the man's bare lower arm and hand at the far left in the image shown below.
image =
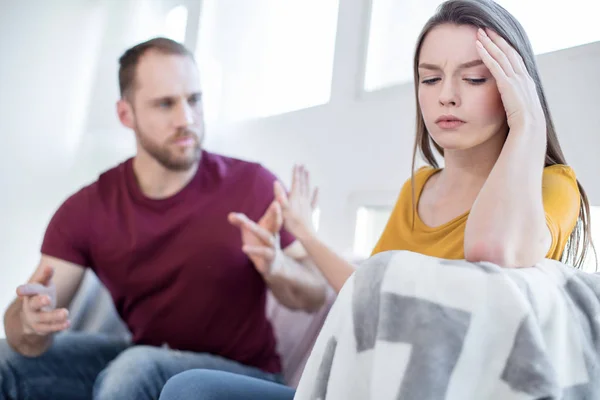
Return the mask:
<path id="1" fill-rule="evenodd" d="M 4 314 L 8 344 L 28 357 L 43 354 L 54 333 L 69 327 L 68 310 L 85 269 L 79 265 L 42 255 L 26 285 L 17 288 L 17 299 Z"/>

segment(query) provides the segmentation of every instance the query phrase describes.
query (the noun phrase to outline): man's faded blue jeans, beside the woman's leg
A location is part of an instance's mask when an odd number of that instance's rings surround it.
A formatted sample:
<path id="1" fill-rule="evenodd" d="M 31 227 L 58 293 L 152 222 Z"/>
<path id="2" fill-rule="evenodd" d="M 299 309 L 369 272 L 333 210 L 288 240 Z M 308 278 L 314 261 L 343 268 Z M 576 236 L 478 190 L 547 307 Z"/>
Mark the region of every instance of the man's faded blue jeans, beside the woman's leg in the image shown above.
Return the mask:
<path id="1" fill-rule="evenodd" d="M 105 335 L 64 333 L 36 358 L 0 340 L 0 400 L 150 400 L 164 384 L 190 369 L 218 369 L 279 382 L 273 375 L 202 353 L 132 346 Z"/>

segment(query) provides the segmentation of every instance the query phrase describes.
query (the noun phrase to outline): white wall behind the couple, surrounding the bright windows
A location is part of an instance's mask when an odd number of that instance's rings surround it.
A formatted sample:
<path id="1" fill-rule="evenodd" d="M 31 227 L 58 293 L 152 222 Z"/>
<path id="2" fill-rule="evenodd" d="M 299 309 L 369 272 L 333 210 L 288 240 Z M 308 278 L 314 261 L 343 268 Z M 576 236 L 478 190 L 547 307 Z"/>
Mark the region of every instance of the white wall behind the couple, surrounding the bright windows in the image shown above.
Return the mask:
<path id="1" fill-rule="evenodd" d="M 198 2 L 187 3 L 197 15 Z M 412 85 L 361 92 L 366 2 L 340 3 L 331 103 L 209 127 L 207 147 L 260 160 L 286 182 L 295 162 L 306 163 L 321 187 L 320 232 L 349 250 L 356 207 L 392 203 L 410 173 L 414 99 Z M 35 267 L 60 202 L 133 152 L 132 135 L 114 113 L 116 61 L 152 35 L 158 18 L 152 4 L 157 1 L 3 2 L 0 310 Z M 191 48 L 195 40 L 188 34 Z M 600 43 L 543 55 L 540 66 L 568 160 L 600 205 Z"/>

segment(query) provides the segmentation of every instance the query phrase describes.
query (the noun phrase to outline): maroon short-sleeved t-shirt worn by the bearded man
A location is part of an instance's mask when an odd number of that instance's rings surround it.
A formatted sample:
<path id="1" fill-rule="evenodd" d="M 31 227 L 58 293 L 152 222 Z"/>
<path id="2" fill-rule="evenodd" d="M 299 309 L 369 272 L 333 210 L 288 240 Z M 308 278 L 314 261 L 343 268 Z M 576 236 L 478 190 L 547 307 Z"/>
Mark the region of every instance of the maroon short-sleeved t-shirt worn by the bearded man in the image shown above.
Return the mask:
<path id="1" fill-rule="evenodd" d="M 216 354 L 280 372 L 266 285 L 227 214 L 254 221 L 276 177 L 260 164 L 204 151 L 195 177 L 161 200 L 144 196 L 132 159 L 68 198 L 42 253 L 92 268 L 137 344 Z M 281 246 L 294 238 L 281 233 Z"/>

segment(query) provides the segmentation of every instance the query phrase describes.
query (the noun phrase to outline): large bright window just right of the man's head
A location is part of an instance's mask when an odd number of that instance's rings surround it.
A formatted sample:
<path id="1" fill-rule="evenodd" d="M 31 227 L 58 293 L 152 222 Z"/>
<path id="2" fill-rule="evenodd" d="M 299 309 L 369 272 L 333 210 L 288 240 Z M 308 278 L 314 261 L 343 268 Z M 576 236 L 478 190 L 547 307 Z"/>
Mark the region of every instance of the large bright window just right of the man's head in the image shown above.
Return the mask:
<path id="1" fill-rule="evenodd" d="M 197 59 L 207 117 L 232 121 L 327 103 L 337 14 L 338 0 L 204 0 Z"/>

